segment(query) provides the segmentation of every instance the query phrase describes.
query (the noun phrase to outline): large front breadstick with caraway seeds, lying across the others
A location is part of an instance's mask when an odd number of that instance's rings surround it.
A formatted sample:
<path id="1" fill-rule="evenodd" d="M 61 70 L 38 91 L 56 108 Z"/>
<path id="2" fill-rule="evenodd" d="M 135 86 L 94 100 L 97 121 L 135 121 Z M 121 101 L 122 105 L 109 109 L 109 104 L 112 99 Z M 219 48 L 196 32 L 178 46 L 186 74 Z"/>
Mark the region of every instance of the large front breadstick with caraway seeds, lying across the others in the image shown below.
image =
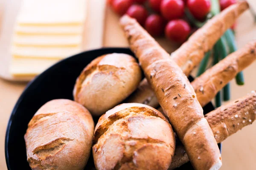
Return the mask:
<path id="1" fill-rule="evenodd" d="M 193 167 L 196 170 L 219 169 L 220 150 L 187 77 L 136 20 L 125 15 L 120 23 Z"/>

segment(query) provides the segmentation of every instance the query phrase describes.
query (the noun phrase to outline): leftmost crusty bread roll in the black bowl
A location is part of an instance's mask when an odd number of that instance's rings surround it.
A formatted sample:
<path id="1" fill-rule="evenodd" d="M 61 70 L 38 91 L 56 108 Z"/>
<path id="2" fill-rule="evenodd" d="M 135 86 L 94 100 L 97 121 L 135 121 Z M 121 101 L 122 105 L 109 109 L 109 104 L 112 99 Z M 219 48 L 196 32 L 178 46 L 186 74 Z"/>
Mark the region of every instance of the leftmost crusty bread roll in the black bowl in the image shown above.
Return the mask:
<path id="1" fill-rule="evenodd" d="M 89 111 L 67 99 L 47 102 L 24 136 L 33 170 L 83 170 L 90 156 L 94 123 Z"/>

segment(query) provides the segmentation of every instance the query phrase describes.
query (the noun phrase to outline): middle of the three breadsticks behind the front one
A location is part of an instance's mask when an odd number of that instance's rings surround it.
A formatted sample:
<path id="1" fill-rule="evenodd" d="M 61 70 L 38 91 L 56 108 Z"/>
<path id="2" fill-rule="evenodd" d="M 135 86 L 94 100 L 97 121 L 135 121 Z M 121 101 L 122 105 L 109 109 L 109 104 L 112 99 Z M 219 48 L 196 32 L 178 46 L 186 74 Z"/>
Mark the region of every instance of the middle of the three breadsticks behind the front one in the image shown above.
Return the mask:
<path id="1" fill-rule="evenodd" d="M 256 41 L 228 55 L 209 68 L 191 84 L 201 106 L 204 107 L 230 80 L 256 59 Z"/>

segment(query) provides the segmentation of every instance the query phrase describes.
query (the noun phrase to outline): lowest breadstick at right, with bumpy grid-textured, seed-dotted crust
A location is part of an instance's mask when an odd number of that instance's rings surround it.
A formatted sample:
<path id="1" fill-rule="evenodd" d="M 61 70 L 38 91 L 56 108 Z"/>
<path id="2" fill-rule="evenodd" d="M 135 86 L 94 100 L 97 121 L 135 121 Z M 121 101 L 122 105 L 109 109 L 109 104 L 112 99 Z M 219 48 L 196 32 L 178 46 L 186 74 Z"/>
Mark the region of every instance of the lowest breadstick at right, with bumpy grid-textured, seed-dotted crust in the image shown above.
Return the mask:
<path id="1" fill-rule="evenodd" d="M 216 142 L 221 143 L 228 136 L 243 127 L 250 125 L 256 116 L 256 92 L 252 91 L 233 102 L 229 102 L 205 115 Z M 189 161 L 186 151 L 180 142 L 176 142 L 175 156 L 169 170 L 173 170 Z"/>

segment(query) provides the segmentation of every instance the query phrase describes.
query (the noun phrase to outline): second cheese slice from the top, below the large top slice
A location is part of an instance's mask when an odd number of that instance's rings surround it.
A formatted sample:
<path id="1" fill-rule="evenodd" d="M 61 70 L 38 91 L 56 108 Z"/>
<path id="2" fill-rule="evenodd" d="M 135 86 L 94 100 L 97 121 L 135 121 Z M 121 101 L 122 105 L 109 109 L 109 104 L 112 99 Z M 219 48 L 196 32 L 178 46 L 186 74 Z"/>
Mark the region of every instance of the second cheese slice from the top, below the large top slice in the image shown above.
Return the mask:
<path id="1" fill-rule="evenodd" d="M 82 34 L 83 26 L 20 26 L 15 33 L 21 35 L 76 35 Z"/>

